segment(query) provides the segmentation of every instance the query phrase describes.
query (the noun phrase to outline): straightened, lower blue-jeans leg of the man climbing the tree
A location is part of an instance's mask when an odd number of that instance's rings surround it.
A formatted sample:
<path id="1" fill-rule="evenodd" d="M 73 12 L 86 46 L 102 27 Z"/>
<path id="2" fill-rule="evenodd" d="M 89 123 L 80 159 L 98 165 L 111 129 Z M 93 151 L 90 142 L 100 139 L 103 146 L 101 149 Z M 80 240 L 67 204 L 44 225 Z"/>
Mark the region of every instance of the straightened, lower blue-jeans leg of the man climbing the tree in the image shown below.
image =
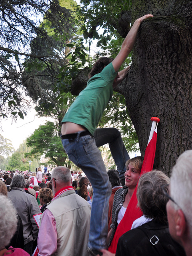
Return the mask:
<path id="1" fill-rule="evenodd" d="M 75 139 L 63 139 L 64 150 L 69 159 L 81 168 L 93 186 L 93 202 L 88 247 L 94 250 L 107 248 L 108 209 L 111 195 L 111 184 L 106 172 L 101 152 L 95 139 L 90 136 Z"/>

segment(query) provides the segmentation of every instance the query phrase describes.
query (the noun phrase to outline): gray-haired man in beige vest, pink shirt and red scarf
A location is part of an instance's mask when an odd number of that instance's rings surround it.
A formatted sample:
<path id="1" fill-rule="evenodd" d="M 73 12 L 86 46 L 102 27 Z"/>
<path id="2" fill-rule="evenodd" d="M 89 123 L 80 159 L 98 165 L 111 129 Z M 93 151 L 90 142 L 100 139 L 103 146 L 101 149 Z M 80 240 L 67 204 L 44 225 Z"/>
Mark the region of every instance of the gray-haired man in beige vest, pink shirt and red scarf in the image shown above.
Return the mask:
<path id="1" fill-rule="evenodd" d="M 68 168 L 56 167 L 50 183 L 54 198 L 41 216 L 38 256 L 89 256 L 90 205 L 75 193 Z"/>

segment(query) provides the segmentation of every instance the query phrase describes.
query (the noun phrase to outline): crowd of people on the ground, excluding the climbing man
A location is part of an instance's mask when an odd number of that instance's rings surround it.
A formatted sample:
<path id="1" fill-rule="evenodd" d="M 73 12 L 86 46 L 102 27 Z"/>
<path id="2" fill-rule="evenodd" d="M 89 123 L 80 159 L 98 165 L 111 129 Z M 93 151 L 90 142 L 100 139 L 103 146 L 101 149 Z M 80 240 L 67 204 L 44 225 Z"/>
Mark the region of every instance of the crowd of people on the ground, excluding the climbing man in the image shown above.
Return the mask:
<path id="1" fill-rule="evenodd" d="M 108 246 L 124 216 L 129 194 L 137 184 L 138 206 L 143 215 L 133 222 L 130 231 L 120 237 L 116 254 L 105 250 L 103 255 L 192 255 L 189 211 L 191 159 L 192 150 L 184 152 L 169 179 L 159 170 L 140 176 L 143 158 L 132 158 L 126 162 L 123 187 L 118 171 L 108 170 L 111 190 L 115 190 L 109 200 L 112 207 L 108 212 Z M 34 253 L 37 256 L 90 256 L 87 244 L 92 204 L 89 201 L 94 200 L 94 193 L 88 178 L 82 174 L 79 178 L 73 178 L 74 172 L 59 166 L 51 175 L 46 175 L 46 182 L 34 185 L 32 193 L 29 187 L 34 177 L 32 174 L 1 172 L 0 255 L 31 256 Z M 7 185 L 9 179 L 10 185 Z M 72 186 L 72 183 L 76 183 L 76 186 Z M 40 224 L 34 218 L 37 215 L 41 216 Z"/>

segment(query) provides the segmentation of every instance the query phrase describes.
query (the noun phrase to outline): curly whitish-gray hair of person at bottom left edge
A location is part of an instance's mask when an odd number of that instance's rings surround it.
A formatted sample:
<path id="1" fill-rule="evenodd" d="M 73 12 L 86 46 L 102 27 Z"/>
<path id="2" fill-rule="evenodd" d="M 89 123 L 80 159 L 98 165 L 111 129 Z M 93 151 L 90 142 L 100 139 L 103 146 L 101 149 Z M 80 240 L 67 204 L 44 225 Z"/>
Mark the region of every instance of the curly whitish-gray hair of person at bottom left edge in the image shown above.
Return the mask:
<path id="1" fill-rule="evenodd" d="M 0 250 L 2 250 L 10 243 L 16 232 L 17 213 L 6 196 L 0 195 L 0 202 Z"/>

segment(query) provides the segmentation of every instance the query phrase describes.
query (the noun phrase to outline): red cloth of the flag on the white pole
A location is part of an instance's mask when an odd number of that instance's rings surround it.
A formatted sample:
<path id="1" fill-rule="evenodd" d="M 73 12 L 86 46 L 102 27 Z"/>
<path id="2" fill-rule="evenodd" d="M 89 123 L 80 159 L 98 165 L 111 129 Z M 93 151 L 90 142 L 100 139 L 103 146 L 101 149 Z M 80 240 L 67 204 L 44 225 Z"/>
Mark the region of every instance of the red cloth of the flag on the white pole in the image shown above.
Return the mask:
<path id="1" fill-rule="evenodd" d="M 150 172 L 153 169 L 156 142 L 157 142 L 157 128 L 154 130 L 153 137 L 146 147 L 144 161 L 143 161 L 140 175 L 146 172 Z M 108 250 L 112 253 L 116 253 L 117 244 L 120 236 L 122 236 L 124 233 L 126 233 L 131 229 L 131 226 L 134 220 L 142 216 L 142 211 L 137 207 L 136 192 L 137 192 L 137 186 L 128 204 L 124 217 L 122 218 L 121 222 L 119 223 L 116 229 L 112 243 L 108 248 Z"/>

